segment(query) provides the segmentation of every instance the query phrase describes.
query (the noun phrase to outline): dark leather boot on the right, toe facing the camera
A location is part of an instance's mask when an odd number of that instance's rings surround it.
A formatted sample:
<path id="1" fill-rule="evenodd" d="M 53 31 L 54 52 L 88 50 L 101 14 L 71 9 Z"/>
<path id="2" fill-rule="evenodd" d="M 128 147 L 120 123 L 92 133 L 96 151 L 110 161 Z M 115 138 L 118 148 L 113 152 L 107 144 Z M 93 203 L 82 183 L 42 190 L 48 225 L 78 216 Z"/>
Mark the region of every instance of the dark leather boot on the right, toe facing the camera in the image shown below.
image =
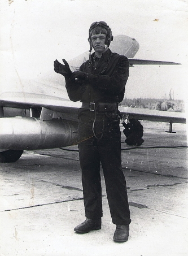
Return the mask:
<path id="1" fill-rule="evenodd" d="M 129 237 L 129 225 L 117 225 L 113 235 L 113 241 L 126 242 Z"/>

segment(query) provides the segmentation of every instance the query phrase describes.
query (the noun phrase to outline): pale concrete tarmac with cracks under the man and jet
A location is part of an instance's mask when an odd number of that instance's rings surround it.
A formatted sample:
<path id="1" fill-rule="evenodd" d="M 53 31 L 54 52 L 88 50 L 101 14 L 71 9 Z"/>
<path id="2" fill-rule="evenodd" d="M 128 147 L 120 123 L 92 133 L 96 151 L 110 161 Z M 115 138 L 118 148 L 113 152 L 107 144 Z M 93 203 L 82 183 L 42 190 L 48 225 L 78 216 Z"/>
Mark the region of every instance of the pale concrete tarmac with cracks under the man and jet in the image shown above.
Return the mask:
<path id="1" fill-rule="evenodd" d="M 121 137 L 132 216 L 127 242 L 113 242 L 102 171 L 102 229 L 73 231 L 85 220 L 77 146 L 24 151 L 0 166 L 1 256 L 188 255 L 186 125 L 165 133 L 167 124 L 142 124 L 139 148 Z"/>

